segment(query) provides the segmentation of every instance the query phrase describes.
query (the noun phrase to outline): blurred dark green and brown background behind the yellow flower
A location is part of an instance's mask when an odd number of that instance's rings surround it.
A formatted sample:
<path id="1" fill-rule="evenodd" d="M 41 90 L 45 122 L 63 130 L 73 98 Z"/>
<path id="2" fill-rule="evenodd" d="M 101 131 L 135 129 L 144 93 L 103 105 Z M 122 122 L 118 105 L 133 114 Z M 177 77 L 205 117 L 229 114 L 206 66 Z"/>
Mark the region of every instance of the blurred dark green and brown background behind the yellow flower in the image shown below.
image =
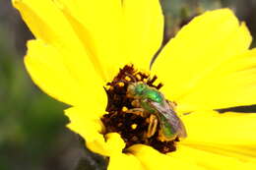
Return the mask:
<path id="1" fill-rule="evenodd" d="M 256 37 L 255 0 L 160 2 L 164 42 L 196 15 L 222 7 L 231 8 Z M 86 169 L 104 169 L 103 159 L 82 148 L 77 135 L 65 128 L 67 106 L 32 84 L 23 64 L 26 41 L 32 38 L 11 0 L 0 0 L 0 170 L 73 170 L 79 162 Z"/>

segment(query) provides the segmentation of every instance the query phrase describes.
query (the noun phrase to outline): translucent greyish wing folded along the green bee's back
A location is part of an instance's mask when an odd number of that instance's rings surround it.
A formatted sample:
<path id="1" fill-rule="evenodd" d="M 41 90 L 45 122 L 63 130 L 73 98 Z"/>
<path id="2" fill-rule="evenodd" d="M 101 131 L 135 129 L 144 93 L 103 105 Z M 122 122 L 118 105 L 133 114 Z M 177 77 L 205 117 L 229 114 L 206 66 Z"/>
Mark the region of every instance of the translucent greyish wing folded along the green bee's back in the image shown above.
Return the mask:
<path id="1" fill-rule="evenodd" d="M 164 116 L 169 124 L 172 126 L 173 130 L 177 133 L 179 138 L 186 138 L 187 133 L 184 124 L 176 115 L 174 110 L 169 106 L 169 104 L 164 101 L 163 103 L 158 103 L 155 101 L 150 101 L 152 106 L 156 108 L 162 116 Z"/>

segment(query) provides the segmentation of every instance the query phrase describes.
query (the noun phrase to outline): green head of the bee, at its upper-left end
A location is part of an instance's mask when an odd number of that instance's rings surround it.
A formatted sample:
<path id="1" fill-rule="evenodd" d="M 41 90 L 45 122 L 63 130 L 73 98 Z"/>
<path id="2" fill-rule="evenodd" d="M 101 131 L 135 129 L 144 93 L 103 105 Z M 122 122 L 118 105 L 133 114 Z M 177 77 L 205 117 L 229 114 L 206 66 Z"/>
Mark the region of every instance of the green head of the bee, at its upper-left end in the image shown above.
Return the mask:
<path id="1" fill-rule="evenodd" d="M 133 83 L 128 85 L 127 87 L 127 95 L 129 97 L 136 97 L 141 96 L 144 93 L 144 90 L 147 88 L 148 85 L 145 85 L 143 83 Z"/>

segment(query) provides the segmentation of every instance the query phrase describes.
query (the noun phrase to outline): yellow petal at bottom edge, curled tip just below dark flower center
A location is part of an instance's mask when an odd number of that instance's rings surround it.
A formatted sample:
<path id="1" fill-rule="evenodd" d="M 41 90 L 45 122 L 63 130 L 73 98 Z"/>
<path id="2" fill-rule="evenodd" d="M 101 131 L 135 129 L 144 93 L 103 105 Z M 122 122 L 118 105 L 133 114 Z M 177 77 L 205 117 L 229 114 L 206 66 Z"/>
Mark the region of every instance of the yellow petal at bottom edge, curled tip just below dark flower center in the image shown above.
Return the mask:
<path id="1" fill-rule="evenodd" d="M 165 169 L 190 169 L 204 170 L 196 162 L 184 162 L 180 158 L 175 158 L 165 155 L 157 151 L 151 146 L 144 144 L 136 144 L 129 148 L 129 151 L 134 154 L 147 170 L 165 170 Z"/>

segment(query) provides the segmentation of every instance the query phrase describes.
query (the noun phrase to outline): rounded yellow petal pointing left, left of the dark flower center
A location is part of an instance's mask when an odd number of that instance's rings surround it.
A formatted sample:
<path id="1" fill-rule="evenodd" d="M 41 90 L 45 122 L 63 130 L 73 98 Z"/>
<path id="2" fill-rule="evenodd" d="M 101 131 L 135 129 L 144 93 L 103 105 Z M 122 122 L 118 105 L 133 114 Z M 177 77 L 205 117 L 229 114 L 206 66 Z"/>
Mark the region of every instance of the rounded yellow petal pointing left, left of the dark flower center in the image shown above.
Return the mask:
<path id="1" fill-rule="evenodd" d="M 70 105 L 91 106 L 91 102 L 106 105 L 106 94 L 102 85 L 96 80 L 91 82 L 91 77 L 86 76 L 85 78 L 89 78 L 88 84 L 79 84 L 75 74 L 68 70 L 62 56 L 54 47 L 41 40 L 31 40 L 28 48 L 26 68 L 33 82 L 47 94 Z"/>

